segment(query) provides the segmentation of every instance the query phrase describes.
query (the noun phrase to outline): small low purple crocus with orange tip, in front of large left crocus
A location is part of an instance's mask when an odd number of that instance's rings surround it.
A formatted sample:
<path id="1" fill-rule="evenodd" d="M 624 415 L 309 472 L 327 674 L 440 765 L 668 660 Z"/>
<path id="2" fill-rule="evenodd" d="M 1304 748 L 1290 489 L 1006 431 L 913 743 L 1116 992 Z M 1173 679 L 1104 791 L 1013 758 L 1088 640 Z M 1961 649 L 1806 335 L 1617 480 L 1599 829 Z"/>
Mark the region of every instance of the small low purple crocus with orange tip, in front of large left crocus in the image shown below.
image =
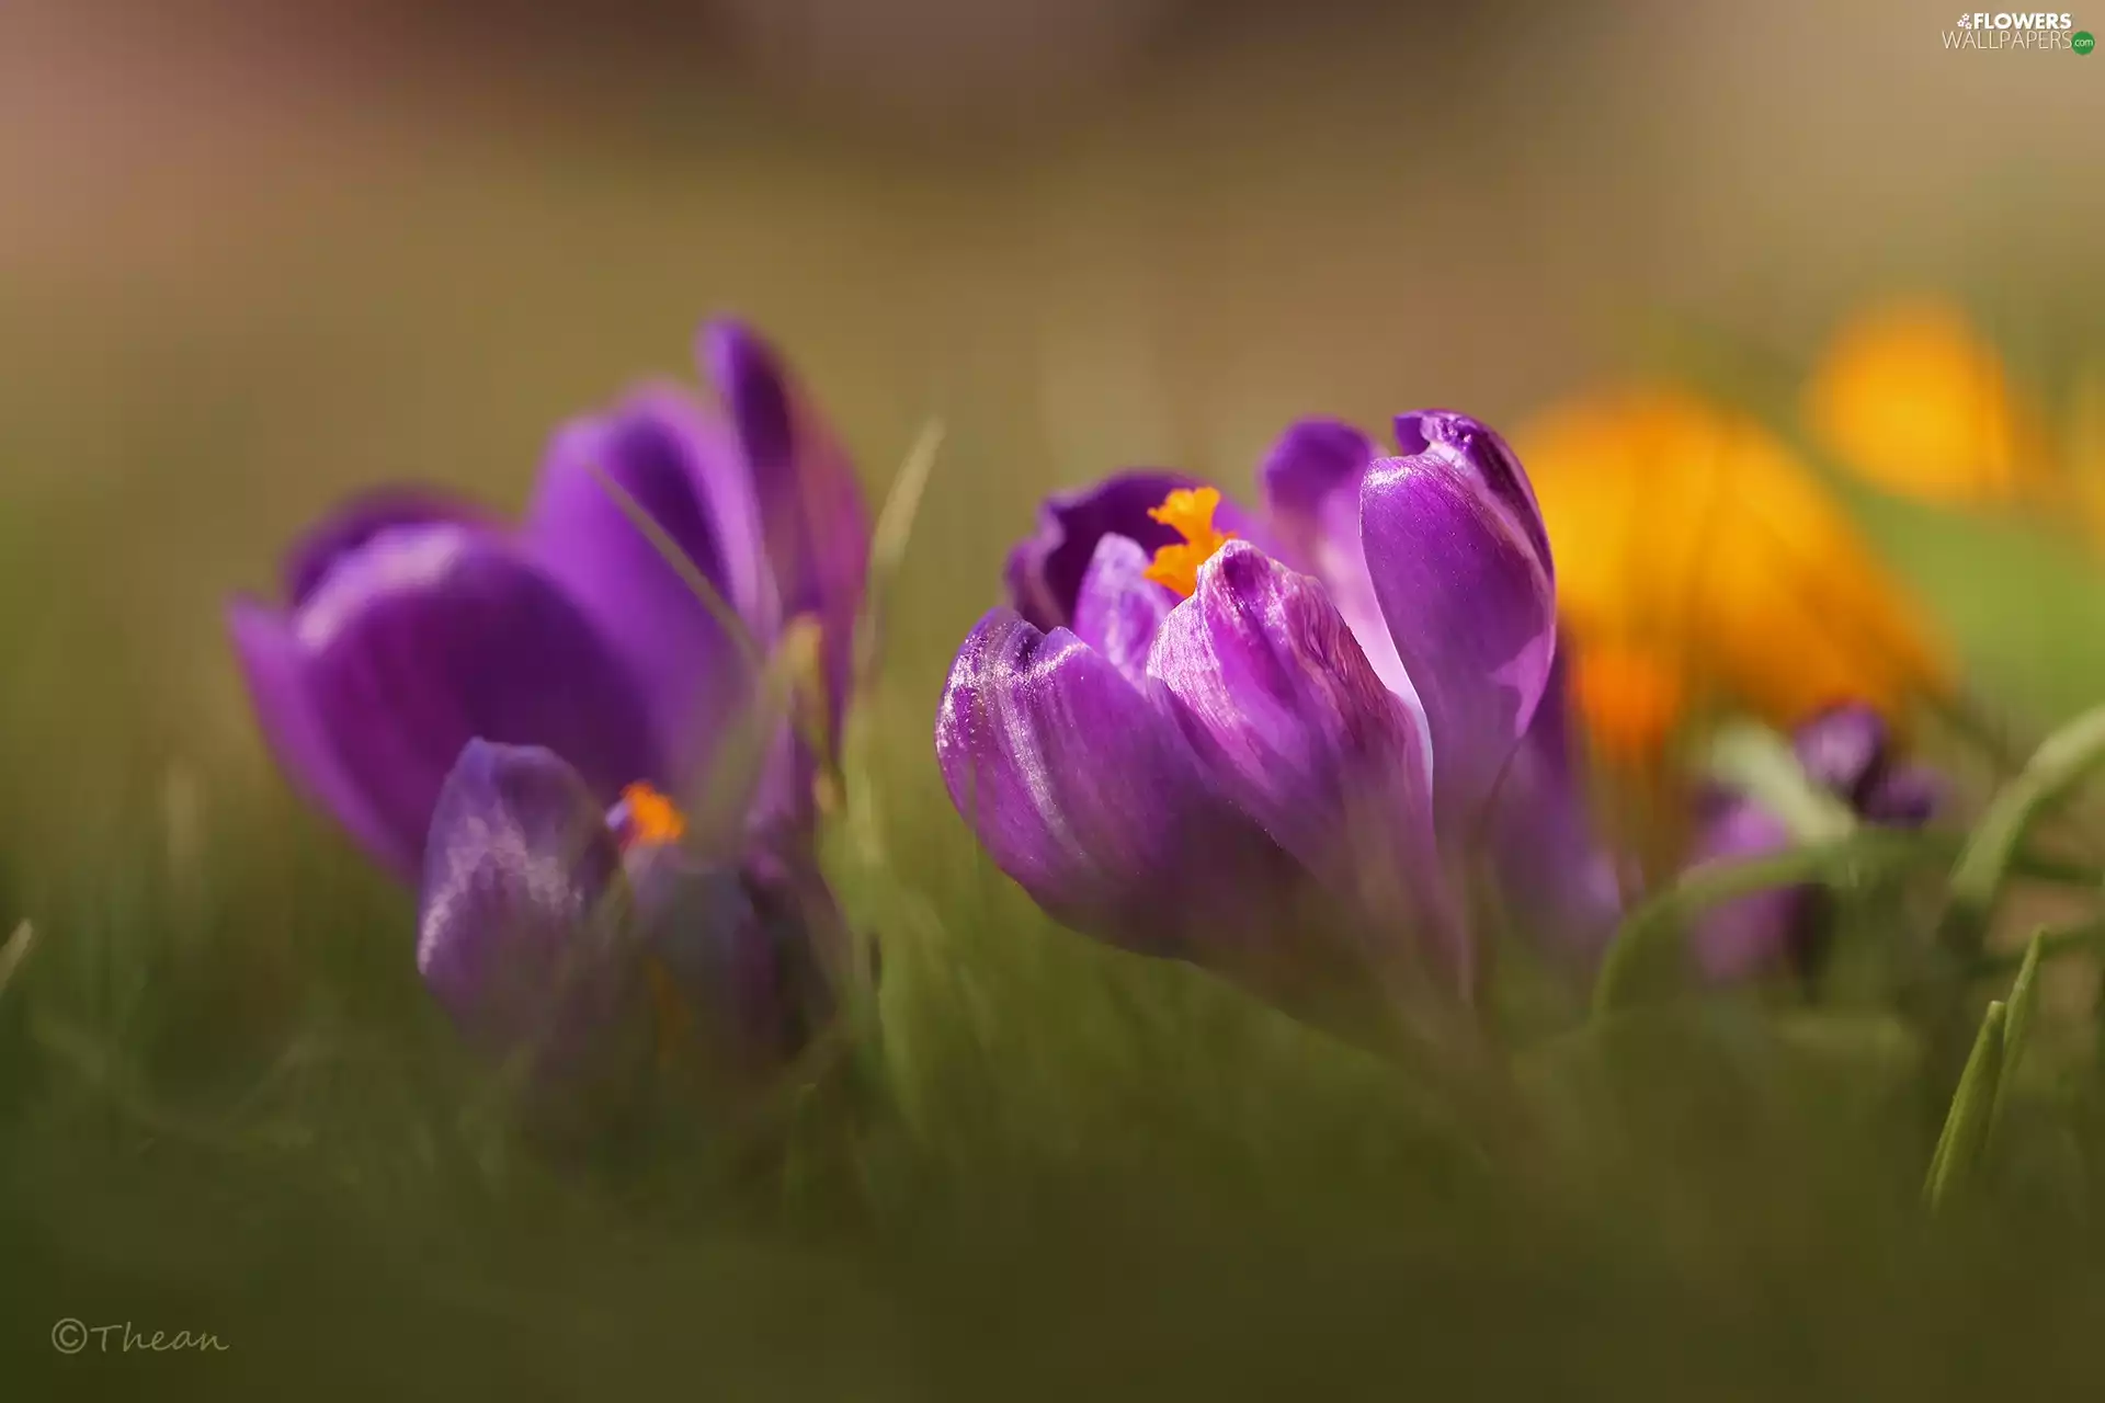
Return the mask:
<path id="1" fill-rule="evenodd" d="M 541 1094 L 688 1052 L 711 1077 L 760 1077 L 831 1012 L 838 917 L 808 871 L 688 841 L 646 785 L 604 810 L 556 753 L 472 740 L 432 818 L 417 970 Z"/>

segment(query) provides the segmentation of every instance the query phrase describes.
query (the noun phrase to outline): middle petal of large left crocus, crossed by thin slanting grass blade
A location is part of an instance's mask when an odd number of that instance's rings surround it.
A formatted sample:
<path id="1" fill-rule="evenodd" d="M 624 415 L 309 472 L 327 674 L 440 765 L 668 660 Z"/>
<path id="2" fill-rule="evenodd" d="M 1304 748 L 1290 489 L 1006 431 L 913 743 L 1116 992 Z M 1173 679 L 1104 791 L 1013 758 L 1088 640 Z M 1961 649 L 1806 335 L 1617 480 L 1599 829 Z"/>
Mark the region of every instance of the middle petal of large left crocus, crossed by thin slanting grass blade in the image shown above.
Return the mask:
<path id="1" fill-rule="evenodd" d="M 764 608 L 751 492 L 728 435 L 678 391 L 648 389 L 556 433 L 526 520 L 526 551 L 621 654 L 686 776 L 745 698 L 749 667 L 602 473 L 747 621 Z"/>

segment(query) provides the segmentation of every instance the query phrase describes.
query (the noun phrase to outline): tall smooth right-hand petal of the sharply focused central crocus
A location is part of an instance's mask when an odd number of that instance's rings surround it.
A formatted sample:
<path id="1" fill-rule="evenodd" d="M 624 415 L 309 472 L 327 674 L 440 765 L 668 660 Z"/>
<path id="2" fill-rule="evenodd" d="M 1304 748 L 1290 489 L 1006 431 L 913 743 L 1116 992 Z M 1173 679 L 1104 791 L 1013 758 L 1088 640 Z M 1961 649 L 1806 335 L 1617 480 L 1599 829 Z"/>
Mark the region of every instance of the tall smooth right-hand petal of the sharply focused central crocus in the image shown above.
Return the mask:
<path id="1" fill-rule="evenodd" d="M 1522 524 L 1446 452 L 1377 461 L 1360 490 L 1360 536 L 1431 728 L 1442 827 L 1455 835 L 1541 705 L 1556 589 Z"/>

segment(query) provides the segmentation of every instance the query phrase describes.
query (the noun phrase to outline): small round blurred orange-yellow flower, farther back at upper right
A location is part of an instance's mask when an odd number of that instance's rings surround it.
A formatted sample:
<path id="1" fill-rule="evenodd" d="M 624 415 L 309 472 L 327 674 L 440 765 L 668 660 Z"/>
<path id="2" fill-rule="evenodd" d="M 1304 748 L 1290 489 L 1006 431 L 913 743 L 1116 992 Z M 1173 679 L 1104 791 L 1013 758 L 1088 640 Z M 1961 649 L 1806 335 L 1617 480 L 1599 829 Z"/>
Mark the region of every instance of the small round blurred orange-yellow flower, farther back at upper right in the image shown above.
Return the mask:
<path id="1" fill-rule="evenodd" d="M 2038 410 L 1996 347 L 1941 299 L 1882 303 L 1844 322 L 1806 383 L 1804 416 L 1842 467 L 1924 501 L 2006 501 L 2046 471 Z"/>

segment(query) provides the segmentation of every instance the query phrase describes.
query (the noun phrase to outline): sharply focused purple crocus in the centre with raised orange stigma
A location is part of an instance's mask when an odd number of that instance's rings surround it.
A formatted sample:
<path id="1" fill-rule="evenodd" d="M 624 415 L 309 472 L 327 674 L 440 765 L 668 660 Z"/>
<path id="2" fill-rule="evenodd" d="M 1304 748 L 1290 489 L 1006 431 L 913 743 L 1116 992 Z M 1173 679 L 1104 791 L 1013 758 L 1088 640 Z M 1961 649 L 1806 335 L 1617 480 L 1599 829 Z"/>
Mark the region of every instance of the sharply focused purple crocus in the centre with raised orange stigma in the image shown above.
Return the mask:
<path id="1" fill-rule="evenodd" d="M 1402 414 L 1396 440 L 1292 425 L 1265 517 L 1158 471 L 1046 503 L 1013 606 L 958 654 L 937 755 L 1050 915 L 1282 1001 L 1307 968 L 1465 989 L 1480 839 L 1535 915 L 1612 917 L 1526 473 L 1465 414 Z"/>

